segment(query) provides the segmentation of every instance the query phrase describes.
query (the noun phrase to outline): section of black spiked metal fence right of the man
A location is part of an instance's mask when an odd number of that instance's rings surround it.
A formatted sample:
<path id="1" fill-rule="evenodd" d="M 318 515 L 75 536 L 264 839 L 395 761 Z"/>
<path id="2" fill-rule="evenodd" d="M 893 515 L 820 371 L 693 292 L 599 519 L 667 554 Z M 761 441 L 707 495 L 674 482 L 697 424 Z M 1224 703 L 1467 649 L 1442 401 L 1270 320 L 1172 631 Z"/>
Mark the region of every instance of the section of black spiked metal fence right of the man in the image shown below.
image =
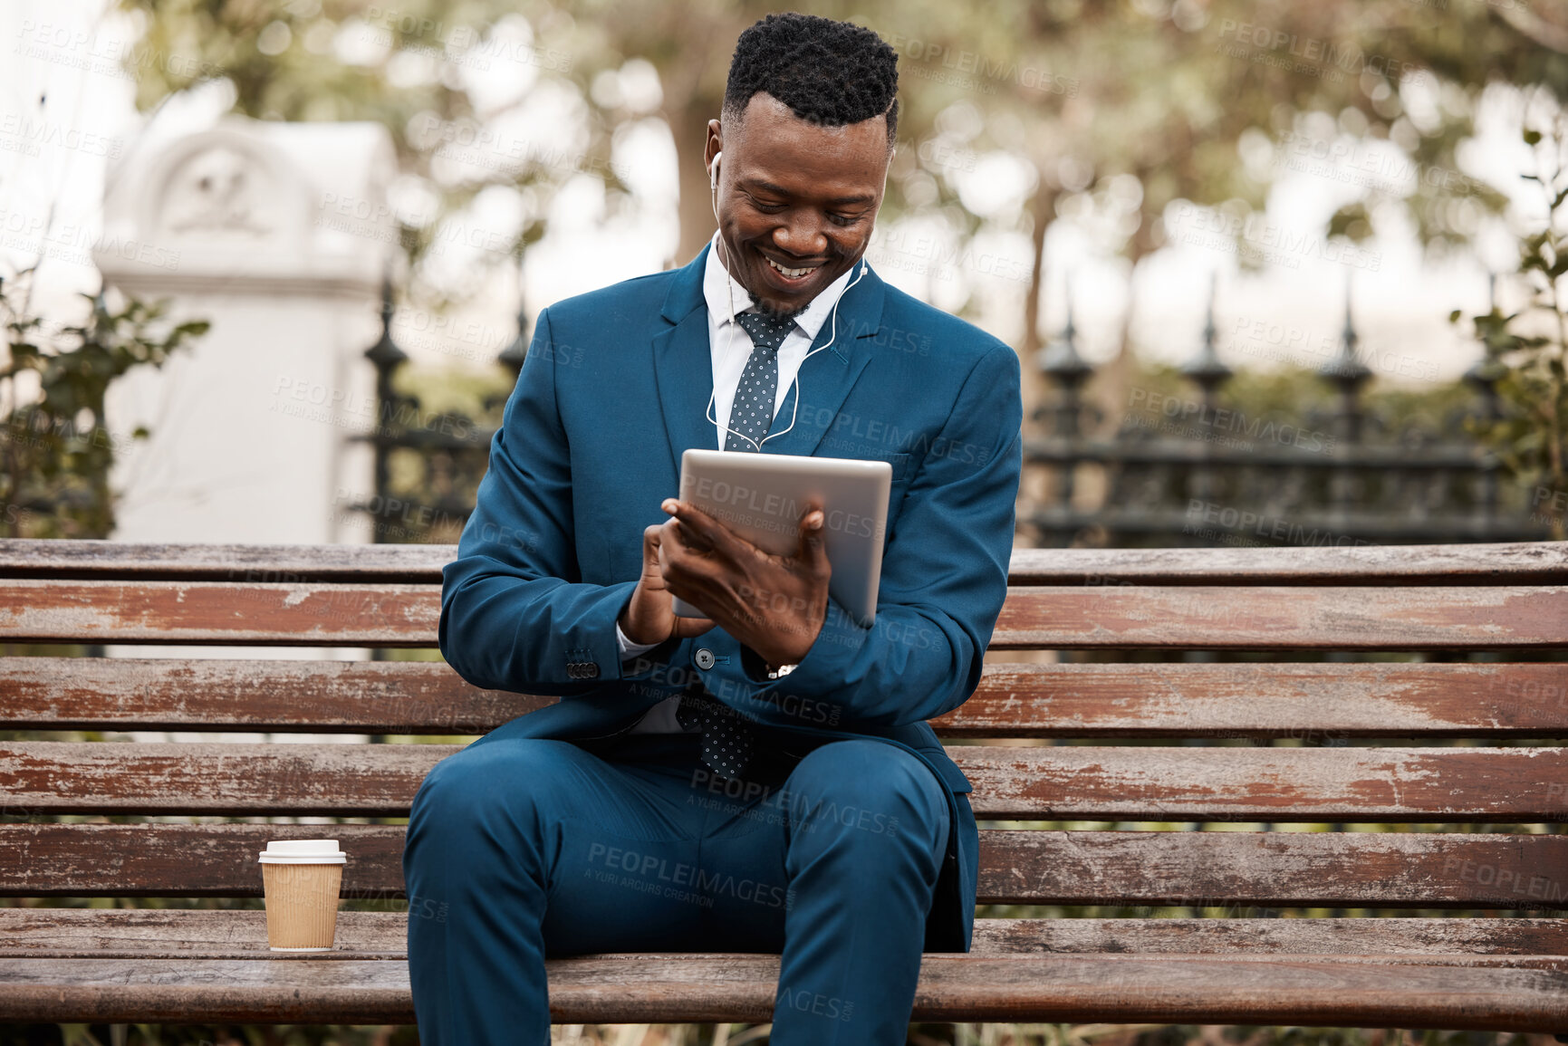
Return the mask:
<path id="1" fill-rule="evenodd" d="M 1497 375 L 1465 375 L 1472 403 L 1436 427 L 1396 423 L 1364 401 L 1374 372 L 1358 353 L 1348 304 L 1338 354 L 1317 370 L 1333 406 L 1279 419 L 1226 405 L 1234 372 L 1215 351 L 1210 301 L 1201 345 L 1181 367 L 1190 394 L 1135 389 L 1121 425 L 1083 397 L 1093 376 L 1079 356 L 1071 314 L 1040 351 L 1052 386 L 1025 439 L 1025 466 L 1046 494 L 1019 510 L 1032 544 L 1107 547 L 1416 544 L 1532 541 L 1551 527 L 1532 518 L 1527 489 L 1471 434 L 1466 422 L 1502 414 Z M 1091 489 L 1085 481 L 1091 480 Z M 1085 497 L 1085 494 L 1088 494 Z"/>

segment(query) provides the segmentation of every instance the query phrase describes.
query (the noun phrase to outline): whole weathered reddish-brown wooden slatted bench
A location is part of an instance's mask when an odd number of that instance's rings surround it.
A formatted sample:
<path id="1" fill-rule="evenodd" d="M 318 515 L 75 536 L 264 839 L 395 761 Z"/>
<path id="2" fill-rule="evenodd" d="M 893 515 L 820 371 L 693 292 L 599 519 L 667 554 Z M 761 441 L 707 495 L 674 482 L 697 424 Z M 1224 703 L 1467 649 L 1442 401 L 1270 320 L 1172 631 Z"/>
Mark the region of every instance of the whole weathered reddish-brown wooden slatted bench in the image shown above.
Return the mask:
<path id="1" fill-rule="evenodd" d="M 0 541 L 0 641 L 431 648 L 452 555 Z M 1543 660 L 1568 648 L 1563 544 L 1021 550 L 1011 580 L 980 690 L 935 723 L 986 739 L 952 746 L 978 900 L 1145 917 L 983 917 L 971 953 L 925 958 L 914 1019 L 1568 1030 L 1568 748 L 1540 743 L 1568 737 L 1568 663 Z M 480 734 L 554 699 L 431 662 L 31 649 L 0 660 L 0 729 Z M 1163 660 L 1011 654 L 1124 649 Z M 1338 660 L 1300 660 L 1319 651 Z M 1443 660 L 1352 659 L 1388 651 Z M 202 819 L 398 819 L 452 751 L 3 742 L 0 892 L 257 897 L 267 839 L 329 834 L 347 897 L 400 897 L 398 823 Z M 1105 823 L 986 825 L 1019 820 Z M 1283 830 L 1358 822 L 1427 830 Z M 1171 905 L 1239 917 L 1154 917 Z M 1275 917 L 1312 910 L 1486 914 Z M 5 908 L 0 1021 L 412 1022 L 406 917 L 345 911 L 334 953 L 276 957 L 260 911 Z M 550 964 L 550 1004 L 767 1021 L 776 975 L 768 955 L 585 957 Z"/>

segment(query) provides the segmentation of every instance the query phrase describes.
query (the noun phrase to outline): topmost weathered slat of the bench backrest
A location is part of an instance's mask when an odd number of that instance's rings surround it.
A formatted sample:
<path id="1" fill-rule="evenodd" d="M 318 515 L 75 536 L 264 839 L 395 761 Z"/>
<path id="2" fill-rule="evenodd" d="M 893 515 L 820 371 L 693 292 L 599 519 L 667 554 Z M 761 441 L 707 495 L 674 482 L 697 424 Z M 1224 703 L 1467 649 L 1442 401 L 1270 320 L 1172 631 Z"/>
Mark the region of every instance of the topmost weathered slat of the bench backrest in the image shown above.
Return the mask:
<path id="1" fill-rule="evenodd" d="M 0 577 L 441 583 L 452 544 L 132 544 L 5 541 Z M 1416 547 L 1014 549 L 1014 585 L 1568 583 L 1552 541 Z"/>

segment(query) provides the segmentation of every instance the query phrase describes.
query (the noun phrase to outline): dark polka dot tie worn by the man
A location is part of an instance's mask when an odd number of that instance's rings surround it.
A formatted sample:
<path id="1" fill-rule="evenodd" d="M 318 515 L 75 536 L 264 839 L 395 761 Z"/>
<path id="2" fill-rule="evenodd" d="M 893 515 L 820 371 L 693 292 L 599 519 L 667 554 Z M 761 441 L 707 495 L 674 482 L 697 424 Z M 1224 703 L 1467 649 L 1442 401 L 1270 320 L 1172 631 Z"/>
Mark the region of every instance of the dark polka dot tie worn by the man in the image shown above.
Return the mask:
<path id="1" fill-rule="evenodd" d="M 724 450 L 756 452 L 773 427 L 773 400 L 779 387 L 779 345 L 793 329 L 795 320 L 742 312 L 735 321 L 751 336 L 751 356 L 740 373 L 735 401 L 729 408 L 729 428 L 735 431 L 724 434 Z M 709 696 L 701 684 L 688 687 L 681 695 L 676 721 L 682 729 L 702 732 L 702 762 L 721 778 L 739 778 L 751 762 L 751 753 L 757 745 L 756 732 L 739 712 Z"/>

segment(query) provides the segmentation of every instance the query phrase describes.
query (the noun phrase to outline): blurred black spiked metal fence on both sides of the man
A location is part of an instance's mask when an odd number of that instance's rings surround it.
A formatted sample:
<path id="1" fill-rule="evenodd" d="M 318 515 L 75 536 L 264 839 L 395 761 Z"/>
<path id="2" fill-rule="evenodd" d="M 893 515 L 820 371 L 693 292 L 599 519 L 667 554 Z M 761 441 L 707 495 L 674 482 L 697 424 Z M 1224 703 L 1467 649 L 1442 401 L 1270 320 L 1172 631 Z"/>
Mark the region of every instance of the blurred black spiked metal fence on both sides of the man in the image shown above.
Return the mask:
<path id="1" fill-rule="evenodd" d="M 375 541 L 456 541 L 474 508 L 505 392 L 485 416 L 433 414 L 394 376 L 408 356 L 392 339 L 392 287 L 383 289 L 376 369 L 375 496 L 354 505 Z M 516 381 L 527 317 L 497 362 Z M 1201 343 L 1181 373 L 1190 394 L 1134 390 L 1112 433 L 1085 395 L 1094 369 L 1076 345 L 1071 314 L 1033 361 L 1051 394 L 1025 422 L 1025 491 L 1019 543 L 1043 547 L 1220 547 L 1534 541 L 1552 536 L 1532 516 L 1527 489 L 1468 431 L 1466 417 L 1502 412 L 1497 375 L 1466 373 L 1471 405 L 1438 427 L 1399 427 L 1364 405 L 1374 372 L 1358 353 L 1345 309 L 1338 354 L 1319 369 L 1333 406 L 1292 417 L 1226 403 L 1232 370 L 1215 348 L 1210 301 Z M 510 383 L 508 383 L 510 384 Z M 508 389 L 510 390 L 510 389 Z M 394 467 L 400 464 L 401 467 Z"/>

